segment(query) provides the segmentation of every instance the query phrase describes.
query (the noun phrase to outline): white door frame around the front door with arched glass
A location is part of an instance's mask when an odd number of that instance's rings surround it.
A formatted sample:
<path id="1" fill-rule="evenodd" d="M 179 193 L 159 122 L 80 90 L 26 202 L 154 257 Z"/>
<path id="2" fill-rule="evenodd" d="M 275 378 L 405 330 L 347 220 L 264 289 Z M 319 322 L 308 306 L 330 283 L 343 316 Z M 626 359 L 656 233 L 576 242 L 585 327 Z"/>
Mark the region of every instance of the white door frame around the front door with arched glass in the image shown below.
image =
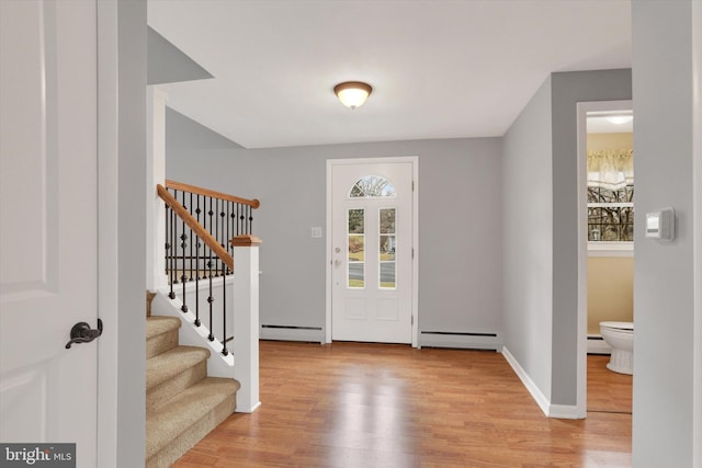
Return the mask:
<path id="1" fill-rule="evenodd" d="M 412 165 L 412 347 L 419 345 L 419 157 L 405 156 L 394 158 L 358 158 L 358 159 L 328 159 L 327 160 L 327 313 L 325 324 L 325 341 L 331 343 L 331 275 L 332 275 L 332 246 L 331 246 L 331 169 L 333 165 L 349 164 L 383 164 L 393 162 L 409 162 Z"/>

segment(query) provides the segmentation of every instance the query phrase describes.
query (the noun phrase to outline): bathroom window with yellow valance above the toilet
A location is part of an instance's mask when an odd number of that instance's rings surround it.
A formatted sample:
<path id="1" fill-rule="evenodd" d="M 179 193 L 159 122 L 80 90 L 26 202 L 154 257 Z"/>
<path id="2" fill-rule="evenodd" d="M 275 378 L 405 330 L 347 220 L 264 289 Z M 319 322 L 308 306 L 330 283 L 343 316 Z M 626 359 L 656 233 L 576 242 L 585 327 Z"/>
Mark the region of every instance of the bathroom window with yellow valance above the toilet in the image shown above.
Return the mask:
<path id="1" fill-rule="evenodd" d="M 588 241 L 634 241 L 634 151 L 588 151 Z"/>

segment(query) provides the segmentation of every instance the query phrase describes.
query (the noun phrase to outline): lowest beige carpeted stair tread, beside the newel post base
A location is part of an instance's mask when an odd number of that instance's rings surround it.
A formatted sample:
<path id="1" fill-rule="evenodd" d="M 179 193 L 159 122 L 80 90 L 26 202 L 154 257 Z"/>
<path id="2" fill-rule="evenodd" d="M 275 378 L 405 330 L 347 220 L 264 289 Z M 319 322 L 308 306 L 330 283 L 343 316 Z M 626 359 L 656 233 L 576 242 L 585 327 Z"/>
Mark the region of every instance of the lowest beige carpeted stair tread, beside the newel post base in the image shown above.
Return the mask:
<path id="1" fill-rule="evenodd" d="M 197 426 L 199 431 L 207 427 L 200 437 L 212 431 L 222 422 L 223 410 L 218 407 L 226 402 L 235 402 L 238 389 L 239 383 L 235 379 L 207 377 L 170 398 L 160 411 L 154 412 L 147 418 L 147 460 L 186 433 L 192 426 Z M 216 411 L 217 409 L 218 411 Z M 230 411 L 229 408 L 226 408 L 227 414 L 231 412 L 234 412 L 234 406 L 230 407 Z M 219 413 L 219 416 L 215 413 Z M 213 421 L 211 423 L 201 421 L 207 418 Z M 190 447 L 184 449 L 188 448 Z"/>

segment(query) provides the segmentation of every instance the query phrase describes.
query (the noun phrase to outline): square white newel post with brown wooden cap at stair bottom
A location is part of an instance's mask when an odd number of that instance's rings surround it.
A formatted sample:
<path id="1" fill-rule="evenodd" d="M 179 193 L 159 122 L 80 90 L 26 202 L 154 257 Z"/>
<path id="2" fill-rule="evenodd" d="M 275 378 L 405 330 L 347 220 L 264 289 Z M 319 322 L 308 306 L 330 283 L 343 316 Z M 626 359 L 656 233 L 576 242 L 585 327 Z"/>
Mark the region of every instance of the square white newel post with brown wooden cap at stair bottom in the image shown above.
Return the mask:
<path id="1" fill-rule="evenodd" d="M 234 247 L 234 378 L 239 413 L 251 413 L 259 400 L 259 246 L 256 236 L 237 236 Z"/>

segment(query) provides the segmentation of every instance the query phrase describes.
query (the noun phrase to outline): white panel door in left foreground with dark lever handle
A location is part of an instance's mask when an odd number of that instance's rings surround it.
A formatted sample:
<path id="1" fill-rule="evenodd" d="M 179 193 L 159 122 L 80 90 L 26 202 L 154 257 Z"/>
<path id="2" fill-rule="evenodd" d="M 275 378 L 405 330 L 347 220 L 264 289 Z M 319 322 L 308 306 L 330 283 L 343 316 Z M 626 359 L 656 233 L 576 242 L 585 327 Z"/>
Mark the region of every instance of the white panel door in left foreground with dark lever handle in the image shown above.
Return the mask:
<path id="1" fill-rule="evenodd" d="M 95 1 L 0 0 L 0 443 L 94 467 Z"/>

